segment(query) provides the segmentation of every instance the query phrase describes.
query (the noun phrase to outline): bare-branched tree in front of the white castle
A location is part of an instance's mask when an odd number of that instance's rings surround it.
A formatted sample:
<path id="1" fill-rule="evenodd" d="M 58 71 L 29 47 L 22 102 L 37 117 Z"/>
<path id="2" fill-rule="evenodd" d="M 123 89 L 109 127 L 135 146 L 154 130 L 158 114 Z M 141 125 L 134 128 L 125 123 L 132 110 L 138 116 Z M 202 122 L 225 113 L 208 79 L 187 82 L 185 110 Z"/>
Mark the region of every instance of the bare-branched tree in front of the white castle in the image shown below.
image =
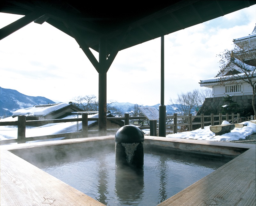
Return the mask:
<path id="1" fill-rule="evenodd" d="M 252 87 L 252 107 L 256 116 L 256 49 L 248 42 L 234 45 L 218 55 L 220 59 L 221 84 L 245 82 Z"/>

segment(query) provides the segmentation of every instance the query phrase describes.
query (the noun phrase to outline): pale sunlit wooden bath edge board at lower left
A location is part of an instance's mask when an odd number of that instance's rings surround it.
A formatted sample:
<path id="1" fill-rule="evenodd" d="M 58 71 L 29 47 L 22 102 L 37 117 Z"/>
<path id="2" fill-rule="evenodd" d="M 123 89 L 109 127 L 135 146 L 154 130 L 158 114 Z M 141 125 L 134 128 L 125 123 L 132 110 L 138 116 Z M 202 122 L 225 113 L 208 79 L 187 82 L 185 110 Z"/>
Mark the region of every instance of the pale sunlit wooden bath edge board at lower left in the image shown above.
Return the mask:
<path id="1" fill-rule="evenodd" d="M 1 151 L 1 206 L 104 205 L 9 151 Z"/>

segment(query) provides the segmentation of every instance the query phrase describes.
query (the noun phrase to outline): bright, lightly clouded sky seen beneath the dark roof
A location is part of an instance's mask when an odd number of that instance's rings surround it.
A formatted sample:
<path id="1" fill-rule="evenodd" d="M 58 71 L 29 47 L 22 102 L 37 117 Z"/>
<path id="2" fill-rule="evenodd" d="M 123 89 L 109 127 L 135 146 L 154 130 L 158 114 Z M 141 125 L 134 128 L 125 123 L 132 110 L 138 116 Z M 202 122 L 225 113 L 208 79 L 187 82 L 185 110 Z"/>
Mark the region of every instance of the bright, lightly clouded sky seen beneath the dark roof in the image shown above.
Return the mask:
<path id="1" fill-rule="evenodd" d="M 0 28 L 21 18 L 0 13 Z M 232 40 L 252 33 L 256 5 L 164 36 L 164 104 L 202 89 L 220 70 Z M 93 51 L 98 59 L 98 53 Z M 161 38 L 119 51 L 107 73 L 108 101 L 160 103 Z M 98 96 L 98 72 L 72 37 L 44 22 L 30 23 L 0 41 L 0 87 L 55 102 Z"/>

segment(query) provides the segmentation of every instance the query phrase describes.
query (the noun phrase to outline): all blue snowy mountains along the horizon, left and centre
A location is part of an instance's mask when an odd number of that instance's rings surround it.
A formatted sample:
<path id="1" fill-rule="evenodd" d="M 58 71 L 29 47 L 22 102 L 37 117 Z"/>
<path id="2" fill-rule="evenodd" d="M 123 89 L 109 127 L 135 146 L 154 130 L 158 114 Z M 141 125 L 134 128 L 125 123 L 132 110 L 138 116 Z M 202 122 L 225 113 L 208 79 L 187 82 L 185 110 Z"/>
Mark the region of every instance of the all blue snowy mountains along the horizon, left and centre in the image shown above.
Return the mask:
<path id="1" fill-rule="evenodd" d="M 55 102 L 51 99 L 47 99 L 45 97 L 32 97 L 25 94 L 22 94 L 13 89 L 4 89 L 0 87 L 0 117 L 8 117 L 13 114 L 14 111 L 18 109 L 24 109 L 28 107 L 33 107 L 34 105 L 42 105 L 42 104 L 54 104 Z M 130 112 L 131 108 L 134 108 L 135 104 L 130 102 L 114 102 L 113 106 L 121 109 L 123 112 Z M 145 107 L 155 107 L 159 108 L 160 104 L 156 104 L 153 106 L 145 106 Z M 140 107 L 140 105 L 138 105 Z M 177 105 L 166 105 L 167 114 L 175 113 L 175 108 Z"/>

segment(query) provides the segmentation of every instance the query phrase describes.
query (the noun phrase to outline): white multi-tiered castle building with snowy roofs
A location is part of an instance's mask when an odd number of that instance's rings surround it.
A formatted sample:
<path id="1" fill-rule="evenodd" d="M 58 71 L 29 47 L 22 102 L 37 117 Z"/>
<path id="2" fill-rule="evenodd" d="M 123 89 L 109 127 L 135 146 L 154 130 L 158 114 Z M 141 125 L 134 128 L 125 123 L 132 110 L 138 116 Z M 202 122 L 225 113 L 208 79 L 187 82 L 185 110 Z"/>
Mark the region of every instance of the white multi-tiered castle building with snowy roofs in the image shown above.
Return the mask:
<path id="1" fill-rule="evenodd" d="M 254 27 L 254 30 L 251 34 L 248 36 L 234 39 L 234 44 L 237 45 L 239 48 L 241 48 L 243 53 L 246 53 L 246 51 L 252 52 L 255 54 L 256 50 L 256 26 Z M 236 53 L 237 55 L 237 53 Z M 244 59 L 243 62 L 240 60 L 234 58 L 234 61 L 230 61 L 228 65 L 221 70 L 215 77 L 200 80 L 199 84 L 200 86 L 205 86 L 208 88 L 212 88 L 212 97 L 224 97 L 226 95 L 229 96 L 245 96 L 245 95 L 252 95 L 252 86 L 248 83 L 246 83 L 241 78 L 246 79 L 246 75 L 250 74 L 252 75 L 252 82 L 256 81 L 256 71 L 255 71 L 255 55 L 254 59 Z M 243 65 L 243 66 L 241 66 Z M 246 73 L 244 73 L 244 69 L 247 70 Z M 241 77 L 234 78 L 235 76 Z"/>

